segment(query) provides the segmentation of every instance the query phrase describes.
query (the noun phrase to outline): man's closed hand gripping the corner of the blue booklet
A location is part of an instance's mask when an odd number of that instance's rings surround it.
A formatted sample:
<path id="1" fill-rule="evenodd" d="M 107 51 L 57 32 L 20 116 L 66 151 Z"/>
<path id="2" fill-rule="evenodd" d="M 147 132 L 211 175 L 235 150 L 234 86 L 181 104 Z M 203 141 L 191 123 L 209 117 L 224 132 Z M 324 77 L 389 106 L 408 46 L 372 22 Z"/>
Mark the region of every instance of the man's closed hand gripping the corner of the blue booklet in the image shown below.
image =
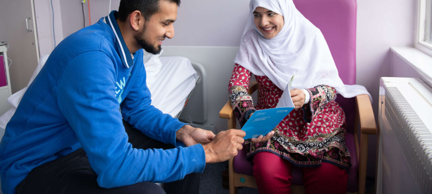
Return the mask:
<path id="1" fill-rule="evenodd" d="M 206 163 L 219 163 L 237 156 L 245 140 L 246 132 L 238 129 L 229 129 L 219 132 L 209 144 L 203 145 L 206 153 Z"/>

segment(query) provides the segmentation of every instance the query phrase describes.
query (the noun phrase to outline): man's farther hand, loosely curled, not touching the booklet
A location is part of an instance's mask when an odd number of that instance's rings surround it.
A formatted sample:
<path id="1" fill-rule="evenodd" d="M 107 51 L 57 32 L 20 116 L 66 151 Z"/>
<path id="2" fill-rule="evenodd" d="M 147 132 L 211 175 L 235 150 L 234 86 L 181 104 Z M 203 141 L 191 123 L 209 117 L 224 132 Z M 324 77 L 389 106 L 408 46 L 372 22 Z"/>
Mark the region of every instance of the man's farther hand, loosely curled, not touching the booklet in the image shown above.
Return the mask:
<path id="1" fill-rule="evenodd" d="M 204 130 L 202 128 L 194 128 L 191 125 L 184 125 L 176 133 L 176 139 L 183 142 L 186 146 L 195 144 L 208 144 L 210 143 L 215 134 L 212 131 Z"/>

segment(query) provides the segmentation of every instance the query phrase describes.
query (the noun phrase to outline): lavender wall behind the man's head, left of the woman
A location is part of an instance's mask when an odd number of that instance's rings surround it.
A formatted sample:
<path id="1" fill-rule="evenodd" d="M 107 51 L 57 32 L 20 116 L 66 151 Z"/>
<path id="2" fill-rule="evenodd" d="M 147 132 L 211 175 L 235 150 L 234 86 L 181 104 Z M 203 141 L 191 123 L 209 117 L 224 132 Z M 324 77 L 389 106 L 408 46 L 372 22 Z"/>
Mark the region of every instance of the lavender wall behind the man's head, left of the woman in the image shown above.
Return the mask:
<path id="1" fill-rule="evenodd" d="M 94 24 L 109 13 L 108 0 L 90 0 L 90 17 Z M 112 0 L 111 10 L 117 10 L 120 0 Z M 60 0 L 63 36 L 83 27 L 81 0 Z M 227 6 L 229 5 L 229 6 Z M 178 9 L 175 38 L 165 40 L 167 46 L 237 47 L 245 28 L 249 0 L 212 1 L 184 0 Z M 88 6 L 84 5 L 86 26 Z"/>

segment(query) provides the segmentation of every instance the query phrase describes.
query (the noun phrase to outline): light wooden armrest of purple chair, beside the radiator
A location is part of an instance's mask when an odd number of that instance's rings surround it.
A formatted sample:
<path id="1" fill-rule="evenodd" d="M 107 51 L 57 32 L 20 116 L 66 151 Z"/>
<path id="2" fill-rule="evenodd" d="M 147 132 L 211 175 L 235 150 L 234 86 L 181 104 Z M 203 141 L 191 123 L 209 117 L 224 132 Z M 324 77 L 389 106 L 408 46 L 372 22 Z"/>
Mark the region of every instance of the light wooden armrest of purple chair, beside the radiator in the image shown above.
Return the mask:
<path id="1" fill-rule="evenodd" d="M 356 105 L 360 122 L 360 132 L 362 134 L 375 135 L 377 133 L 377 125 L 375 123 L 375 116 L 369 95 L 362 94 L 356 96 Z"/>

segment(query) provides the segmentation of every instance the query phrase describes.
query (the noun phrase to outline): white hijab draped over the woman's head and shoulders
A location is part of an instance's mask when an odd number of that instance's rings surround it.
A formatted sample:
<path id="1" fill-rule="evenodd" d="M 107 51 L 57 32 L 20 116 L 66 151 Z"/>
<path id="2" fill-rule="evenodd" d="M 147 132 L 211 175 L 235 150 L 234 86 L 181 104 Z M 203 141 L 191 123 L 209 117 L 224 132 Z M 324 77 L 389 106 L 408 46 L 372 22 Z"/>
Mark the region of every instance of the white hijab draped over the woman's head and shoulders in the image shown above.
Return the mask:
<path id="1" fill-rule="evenodd" d="M 257 7 L 283 16 L 283 27 L 274 38 L 264 38 L 256 28 L 253 12 Z M 251 0 L 249 8 L 234 63 L 254 75 L 266 75 L 282 90 L 295 75 L 291 88 L 306 89 L 324 84 L 347 98 L 369 94 L 361 85 L 343 84 L 323 34 L 295 8 L 292 0 Z"/>

